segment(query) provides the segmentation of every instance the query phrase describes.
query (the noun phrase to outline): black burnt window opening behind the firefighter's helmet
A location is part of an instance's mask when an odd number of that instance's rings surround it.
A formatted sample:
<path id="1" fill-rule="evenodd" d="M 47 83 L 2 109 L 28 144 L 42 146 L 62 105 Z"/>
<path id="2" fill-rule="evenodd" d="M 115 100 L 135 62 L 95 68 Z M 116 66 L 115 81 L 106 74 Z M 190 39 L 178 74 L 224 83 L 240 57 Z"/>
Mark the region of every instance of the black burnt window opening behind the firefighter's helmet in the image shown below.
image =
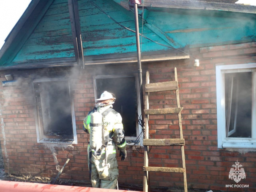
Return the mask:
<path id="1" fill-rule="evenodd" d="M 116 101 L 113 109 L 122 116 L 125 136 L 136 137 L 136 79 L 135 77 L 121 77 L 96 79 L 97 96 L 108 91 L 114 93 Z"/>

